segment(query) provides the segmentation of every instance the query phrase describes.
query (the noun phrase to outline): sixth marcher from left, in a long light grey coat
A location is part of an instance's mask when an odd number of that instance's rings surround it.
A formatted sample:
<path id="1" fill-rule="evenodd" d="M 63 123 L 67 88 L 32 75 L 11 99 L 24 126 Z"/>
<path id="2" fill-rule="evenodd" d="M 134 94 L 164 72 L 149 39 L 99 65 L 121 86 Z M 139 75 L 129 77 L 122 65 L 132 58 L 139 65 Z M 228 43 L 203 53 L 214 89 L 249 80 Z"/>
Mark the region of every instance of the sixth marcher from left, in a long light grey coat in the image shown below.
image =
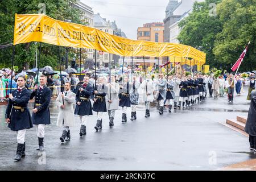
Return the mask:
<path id="1" fill-rule="evenodd" d="M 114 126 L 115 110 L 118 110 L 119 105 L 119 84 L 115 82 L 115 76 L 110 76 L 111 84 L 108 84 L 108 94 L 106 94 L 106 108 L 109 114 L 109 126 Z"/>

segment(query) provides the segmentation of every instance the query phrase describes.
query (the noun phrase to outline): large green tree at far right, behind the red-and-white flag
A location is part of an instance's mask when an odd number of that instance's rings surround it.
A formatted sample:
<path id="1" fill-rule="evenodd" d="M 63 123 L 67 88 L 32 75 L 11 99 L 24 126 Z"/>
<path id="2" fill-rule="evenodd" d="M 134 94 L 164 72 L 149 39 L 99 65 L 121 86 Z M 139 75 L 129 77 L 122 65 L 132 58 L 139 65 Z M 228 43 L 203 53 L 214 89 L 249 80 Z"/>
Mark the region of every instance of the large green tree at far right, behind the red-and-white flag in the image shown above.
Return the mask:
<path id="1" fill-rule="evenodd" d="M 213 53 L 220 64 L 230 68 L 250 41 L 240 71 L 256 69 L 256 0 L 223 0 L 217 6 L 223 28 L 216 35 Z"/>

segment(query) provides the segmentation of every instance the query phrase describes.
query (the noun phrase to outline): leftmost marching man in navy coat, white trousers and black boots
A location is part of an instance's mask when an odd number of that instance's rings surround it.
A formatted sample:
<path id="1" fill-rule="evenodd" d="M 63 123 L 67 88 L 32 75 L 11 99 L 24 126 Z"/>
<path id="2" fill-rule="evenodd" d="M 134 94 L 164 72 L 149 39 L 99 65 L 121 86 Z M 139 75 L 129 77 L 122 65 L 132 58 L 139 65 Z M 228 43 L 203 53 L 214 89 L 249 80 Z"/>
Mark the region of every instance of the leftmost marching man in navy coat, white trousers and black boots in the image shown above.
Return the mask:
<path id="1" fill-rule="evenodd" d="M 9 94 L 9 102 L 6 108 L 5 121 L 12 131 L 17 134 L 17 150 L 14 160 L 19 161 L 25 154 L 25 134 L 26 129 L 33 127 L 28 102 L 30 101 L 30 92 L 25 88 L 25 78 L 18 77 L 18 89 Z"/>

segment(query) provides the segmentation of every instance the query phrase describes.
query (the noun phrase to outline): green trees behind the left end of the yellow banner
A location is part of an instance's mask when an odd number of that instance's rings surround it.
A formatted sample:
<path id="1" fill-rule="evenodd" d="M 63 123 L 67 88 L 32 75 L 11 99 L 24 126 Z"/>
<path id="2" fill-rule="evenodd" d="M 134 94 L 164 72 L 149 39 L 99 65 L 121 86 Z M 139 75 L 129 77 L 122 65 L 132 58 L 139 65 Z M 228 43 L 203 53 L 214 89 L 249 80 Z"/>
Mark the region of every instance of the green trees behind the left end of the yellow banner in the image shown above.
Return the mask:
<path id="1" fill-rule="evenodd" d="M 13 42 L 14 18 L 17 14 L 37 14 L 39 3 L 45 3 L 46 14 L 58 20 L 72 20 L 73 23 L 83 24 L 80 20 L 81 11 L 74 9 L 70 3 L 76 0 L 9 0 L 0 3 L 0 43 L 9 44 Z M 86 24 L 86 22 L 84 23 Z M 39 48 L 39 43 L 38 43 Z M 57 67 L 58 47 L 42 43 L 41 61 L 39 67 L 50 65 Z M 0 60 L 5 67 L 11 65 L 11 47 L 0 49 Z M 35 62 L 36 45 L 34 42 L 19 44 L 15 46 L 15 65 L 20 69 L 32 67 Z M 62 53 L 61 55 L 63 55 Z M 72 51 L 69 52 L 69 60 Z"/>

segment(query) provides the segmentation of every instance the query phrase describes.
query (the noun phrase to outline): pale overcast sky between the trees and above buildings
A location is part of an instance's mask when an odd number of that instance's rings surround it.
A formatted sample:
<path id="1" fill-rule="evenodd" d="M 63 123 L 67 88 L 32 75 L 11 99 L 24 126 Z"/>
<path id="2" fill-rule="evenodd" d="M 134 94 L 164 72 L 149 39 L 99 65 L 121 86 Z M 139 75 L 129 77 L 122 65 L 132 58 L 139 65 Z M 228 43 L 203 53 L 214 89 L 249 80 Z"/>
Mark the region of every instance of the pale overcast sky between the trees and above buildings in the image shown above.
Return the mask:
<path id="1" fill-rule="evenodd" d="M 169 0 L 81 0 L 94 14 L 113 22 L 127 38 L 137 40 L 137 28 L 144 23 L 163 22 Z"/>

